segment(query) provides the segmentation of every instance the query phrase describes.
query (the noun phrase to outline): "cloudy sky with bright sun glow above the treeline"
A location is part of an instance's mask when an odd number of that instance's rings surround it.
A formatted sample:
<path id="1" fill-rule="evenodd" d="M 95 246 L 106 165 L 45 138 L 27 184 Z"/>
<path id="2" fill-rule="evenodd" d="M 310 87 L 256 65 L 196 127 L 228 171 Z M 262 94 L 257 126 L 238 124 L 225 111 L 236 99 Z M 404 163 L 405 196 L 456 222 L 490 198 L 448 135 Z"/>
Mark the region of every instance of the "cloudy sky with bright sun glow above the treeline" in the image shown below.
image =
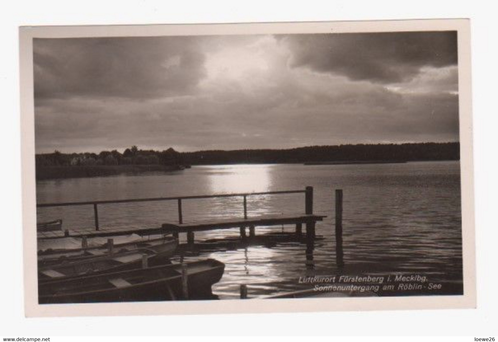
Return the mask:
<path id="1" fill-rule="evenodd" d="M 456 32 L 34 40 L 37 152 L 458 140 Z"/>

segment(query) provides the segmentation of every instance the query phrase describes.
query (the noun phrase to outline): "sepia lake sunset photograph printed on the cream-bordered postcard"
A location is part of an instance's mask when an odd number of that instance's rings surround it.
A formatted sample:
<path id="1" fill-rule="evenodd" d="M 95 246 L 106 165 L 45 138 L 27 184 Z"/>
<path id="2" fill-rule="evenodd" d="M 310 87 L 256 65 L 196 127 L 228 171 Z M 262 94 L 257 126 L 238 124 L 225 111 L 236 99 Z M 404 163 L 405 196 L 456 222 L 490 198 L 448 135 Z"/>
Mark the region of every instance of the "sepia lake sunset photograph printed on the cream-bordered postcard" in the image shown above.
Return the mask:
<path id="1" fill-rule="evenodd" d="M 462 26 L 345 26 L 34 28 L 35 305 L 473 294 Z"/>

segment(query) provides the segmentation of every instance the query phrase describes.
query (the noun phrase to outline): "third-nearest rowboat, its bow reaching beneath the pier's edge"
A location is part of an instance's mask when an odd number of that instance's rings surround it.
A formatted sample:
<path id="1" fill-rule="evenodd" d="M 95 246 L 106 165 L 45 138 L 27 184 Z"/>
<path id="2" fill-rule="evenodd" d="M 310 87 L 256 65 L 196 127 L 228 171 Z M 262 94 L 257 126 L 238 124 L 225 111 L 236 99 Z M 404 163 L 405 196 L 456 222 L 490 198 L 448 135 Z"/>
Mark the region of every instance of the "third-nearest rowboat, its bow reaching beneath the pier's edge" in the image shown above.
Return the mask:
<path id="1" fill-rule="evenodd" d="M 171 236 L 163 236 L 150 240 L 139 240 L 119 245 L 100 245 L 98 247 L 77 249 L 56 249 L 38 252 L 38 267 L 44 268 L 60 264 L 62 262 L 82 261 L 95 256 L 110 256 L 116 253 L 148 249 L 157 254 L 157 258 L 168 258 L 173 255 L 178 246 L 178 239 Z"/>

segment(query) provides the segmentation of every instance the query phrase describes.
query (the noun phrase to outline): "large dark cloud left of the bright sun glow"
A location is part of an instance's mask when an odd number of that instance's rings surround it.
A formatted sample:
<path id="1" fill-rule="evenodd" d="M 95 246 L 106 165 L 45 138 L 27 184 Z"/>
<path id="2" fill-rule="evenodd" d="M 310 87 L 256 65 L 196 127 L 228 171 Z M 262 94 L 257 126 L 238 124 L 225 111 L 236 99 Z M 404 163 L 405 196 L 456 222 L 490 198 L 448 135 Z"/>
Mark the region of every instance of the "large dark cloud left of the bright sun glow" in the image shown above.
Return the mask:
<path id="1" fill-rule="evenodd" d="M 35 98 L 153 98 L 205 76 L 195 37 L 35 39 Z"/>

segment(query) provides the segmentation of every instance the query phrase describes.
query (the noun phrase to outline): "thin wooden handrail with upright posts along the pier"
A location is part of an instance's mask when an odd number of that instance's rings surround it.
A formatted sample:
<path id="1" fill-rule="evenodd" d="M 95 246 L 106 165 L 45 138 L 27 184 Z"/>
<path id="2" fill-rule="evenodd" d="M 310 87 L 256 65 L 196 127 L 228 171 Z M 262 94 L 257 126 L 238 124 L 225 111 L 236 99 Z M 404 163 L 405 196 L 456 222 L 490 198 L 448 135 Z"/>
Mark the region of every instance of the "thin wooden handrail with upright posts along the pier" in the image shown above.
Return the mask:
<path id="1" fill-rule="evenodd" d="M 95 229 L 99 230 L 99 211 L 98 205 L 119 204 L 119 203 L 136 203 L 136 202 L 158 202 L 158 201 L 177 201 L 178 206 L 178 223 L 183 224 L 182 201 L 196 200 L 207 198 L 224 198 L 224 197 L 242 197 L 244 199 L 244 219 L 248 218 L 247 198 L 250 196 L 261 195 L 281 195 L 281 194 L 305 194 L 305 214 L 313 214 L 313 187 L 307 186 L 304 190 L 284 190 L 284 191 L 266 191 L 237 194 L 217 194 L 217 195 L 200 195 L 200 196 L 175 196 L 175 197 L 154 197 L 154 198 L 134 198 L 124 200 L 106 200 L 106 201 L 85 201 L 85 202 L 61 202 L 61 203 L 40 203 L 37 208 L 47 207 L 70 207 L 70 206 L 93 206 Z"/>

